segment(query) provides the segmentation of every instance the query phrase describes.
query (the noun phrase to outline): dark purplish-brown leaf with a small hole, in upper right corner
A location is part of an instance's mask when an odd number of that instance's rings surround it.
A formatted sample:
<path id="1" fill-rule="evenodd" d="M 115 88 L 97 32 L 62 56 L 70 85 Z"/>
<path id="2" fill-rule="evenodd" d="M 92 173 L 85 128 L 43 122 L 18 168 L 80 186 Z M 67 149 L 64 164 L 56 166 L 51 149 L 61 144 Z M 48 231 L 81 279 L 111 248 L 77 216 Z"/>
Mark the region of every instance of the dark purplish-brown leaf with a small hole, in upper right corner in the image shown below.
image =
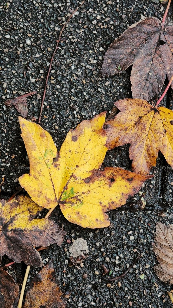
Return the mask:
<path id="1" fill-rule="evenodd" d="M 172 22 L 162 24 L 155 17 L 137 22 L 107 50 L 102 75 L 109 77 L 133 64 L 130 78 L 133 98 L 151 99 L 161 91 L 166 75 L 170 80 L 173 74 L 172 35 Z"/>

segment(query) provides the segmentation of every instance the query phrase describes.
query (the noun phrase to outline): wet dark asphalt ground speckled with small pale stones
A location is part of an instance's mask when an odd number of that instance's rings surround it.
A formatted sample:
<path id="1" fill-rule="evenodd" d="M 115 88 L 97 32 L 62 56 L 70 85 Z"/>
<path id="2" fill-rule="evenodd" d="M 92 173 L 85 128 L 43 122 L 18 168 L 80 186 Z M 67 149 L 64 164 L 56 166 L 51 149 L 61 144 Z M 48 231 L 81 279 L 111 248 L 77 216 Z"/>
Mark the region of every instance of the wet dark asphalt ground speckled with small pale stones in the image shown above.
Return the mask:
<path id="1" fill-rule="evenodd" d="M 18 177 L 29 172 L 29 162 L 20 136 L 18 112 L 14 107 L 6 107 L 4 102 L 36 90 L 37 95 L 27 99 L 27 119 L 38 119 L 56 39 L 62 23 L 78 4 L 75 0 L 1 1 L 0 182 L 4 176 L 1 198 L 6 200 L 19 188 Z M 86 0 L 75 13 L 55 55 L 41 121 L 58 150 L 70 128 L 101 111 L 110 112 L 115 100 L 131 97 L 131 68 L 121 75 L 103 79 L 100 77 L 103 55 L 128 25 L 145 16 L 161 19 L 164 10 L 158 0 Z M 153 99 L 156 100 L 157 97 Z M 170 90 L 162 105 L 173 109 L 172 102 Z M 109 151 L 103 165 L 131 170 L 128 148 L 126 145 Z M 155 222 L 171 224 L 173 214 L 173 172 L 160 153 L 153 174 L 154 178 L 143 185 L 139 194 L 127 201 L 129 206 L 138 204 L 142 198 L 145 209 L 135 213 L 126 208 L 109 212 L 109 228 L 90 230 L 72 225 L 58 207 L 51 215 L 56 222 L 64 224 L 68 235 L 60 248 L 52 245 L 41 254 L 45 264 L 53 260 L 61 290 L 70 294 L 68 308 L 171 308 L 166 292 L 171 286 L 162 283 L 153 271 Z M 70 267 L 69 247 L 80 237 L 87 241 L 89 253 L 81 265 Z M 129 267 L 138 253 L 142 254 L 141 259 L 123 279 L 112 284 L 103 281 L 102 264 L 115 277 Z M 2 258 L 2 265 L 8 262 L 6 257 Z M 8 271 L 20 284 L 25 268 L 24 264 L 15 264 Z M 27 287 L 37 271 L 31 269 Z"/>

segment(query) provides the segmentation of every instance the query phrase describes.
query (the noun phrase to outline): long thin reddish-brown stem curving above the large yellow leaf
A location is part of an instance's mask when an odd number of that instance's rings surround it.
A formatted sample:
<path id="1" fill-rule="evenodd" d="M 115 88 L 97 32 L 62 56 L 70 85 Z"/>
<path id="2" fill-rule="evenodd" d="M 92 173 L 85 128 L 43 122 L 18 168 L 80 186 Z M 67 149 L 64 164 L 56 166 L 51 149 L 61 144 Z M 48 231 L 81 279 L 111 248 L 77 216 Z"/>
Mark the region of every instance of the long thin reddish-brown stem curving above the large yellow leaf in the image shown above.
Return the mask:
<path id="1" fill-rule="evenodd" d="M 66 27 L 66 25 L 68 24 L 68 22 L 70 21 L 70 19 L 73 17 L 74 13 L 77 12 L 77 10 L 79 9 L 79 7 L 82 6 L 82 4 L 84 3 L 84 1 L 81 2 L 81 4 L 74 10 L 74 12 L 70 15 L 70 17 L 67 19 L 67 21 L 65 22 L 65 24 L 63 25 L 62 27 L 62 30 L 59 34 L 59 38 L 58 40 L 56 41 L 56 47 L 55 47 L 55 50 L 53 52 L 53 55 L 52 55 L 52 58 L 50 60 L 50 65 L 49 65 L 49 70 L 48 70 L 48 73 L 47 73 L 47 77 L 46 77 L 46 83 L 45 83 L 45 87 L 44 87 L 44 92 L 43 92 L 43 97 L 42 97 L 42 104 L 41 104 L 41 108 L 40 108 L 40 116 L 39 116 L 39 119 L 38 119 L 38 123 L 40 124 L 41 123 L 41 117 L 42 117 L 42 110 L 43 110 L 43 104 L 44 104 L 44 100 L 45 100 L 45 96 L 46 96 L 46 89 L 47 89 L 47 83 L 48 83 L 48 79 L 49 79 L 49 74 L 50 74 L 50 71 L 51 71 L 51 67 L 52 67 L 52 62 L 54 60 L 54 55 L 58 49 L 58 45 L 59 45 L 59 42 L 61 41 L 61 36 L 62 36 L 62 32 L 64 30 L 64 28 Z"/>

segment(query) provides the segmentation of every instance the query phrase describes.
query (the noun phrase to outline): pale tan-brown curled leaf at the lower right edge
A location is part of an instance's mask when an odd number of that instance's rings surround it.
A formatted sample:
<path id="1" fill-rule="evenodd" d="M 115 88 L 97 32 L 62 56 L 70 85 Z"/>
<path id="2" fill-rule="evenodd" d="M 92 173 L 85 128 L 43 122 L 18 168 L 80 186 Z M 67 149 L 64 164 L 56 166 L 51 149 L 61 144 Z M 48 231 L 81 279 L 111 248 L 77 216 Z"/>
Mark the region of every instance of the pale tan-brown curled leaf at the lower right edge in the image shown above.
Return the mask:
<path id="1" fill-rule="evenodd" d="M 156 223 L 153 251 L 159 264 L 154 266 L 156 275 L 163 282 L 173 283 L 173 228 Z"/>

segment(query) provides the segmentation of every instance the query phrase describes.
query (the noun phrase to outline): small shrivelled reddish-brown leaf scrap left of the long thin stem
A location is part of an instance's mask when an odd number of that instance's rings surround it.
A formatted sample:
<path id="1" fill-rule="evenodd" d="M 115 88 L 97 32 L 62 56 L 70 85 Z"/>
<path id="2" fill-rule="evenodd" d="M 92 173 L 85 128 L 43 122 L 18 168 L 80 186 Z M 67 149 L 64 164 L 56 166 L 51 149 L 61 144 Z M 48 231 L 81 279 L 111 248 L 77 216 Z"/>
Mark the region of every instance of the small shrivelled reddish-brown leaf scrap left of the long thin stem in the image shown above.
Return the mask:
<path id="1" fill-rule="evenodd" d="M 5 102 L 6 106 L 11 107 L 12 105 L 14 105 L 14 107 L 17 109 L 17 111 L 20 113 L 20 115 L 22 115 L 23 118 L 26 118 L 27 114 L 28 114 L 28 107 L 27 107 L 27 103 L 26 103 L 26 97 L 31 96 L 36 94 L 37 92 L 30 92 L 30 93 L 26 93 L 24 95 L 15 97 L 13 99 L 8 99 Z"/>

